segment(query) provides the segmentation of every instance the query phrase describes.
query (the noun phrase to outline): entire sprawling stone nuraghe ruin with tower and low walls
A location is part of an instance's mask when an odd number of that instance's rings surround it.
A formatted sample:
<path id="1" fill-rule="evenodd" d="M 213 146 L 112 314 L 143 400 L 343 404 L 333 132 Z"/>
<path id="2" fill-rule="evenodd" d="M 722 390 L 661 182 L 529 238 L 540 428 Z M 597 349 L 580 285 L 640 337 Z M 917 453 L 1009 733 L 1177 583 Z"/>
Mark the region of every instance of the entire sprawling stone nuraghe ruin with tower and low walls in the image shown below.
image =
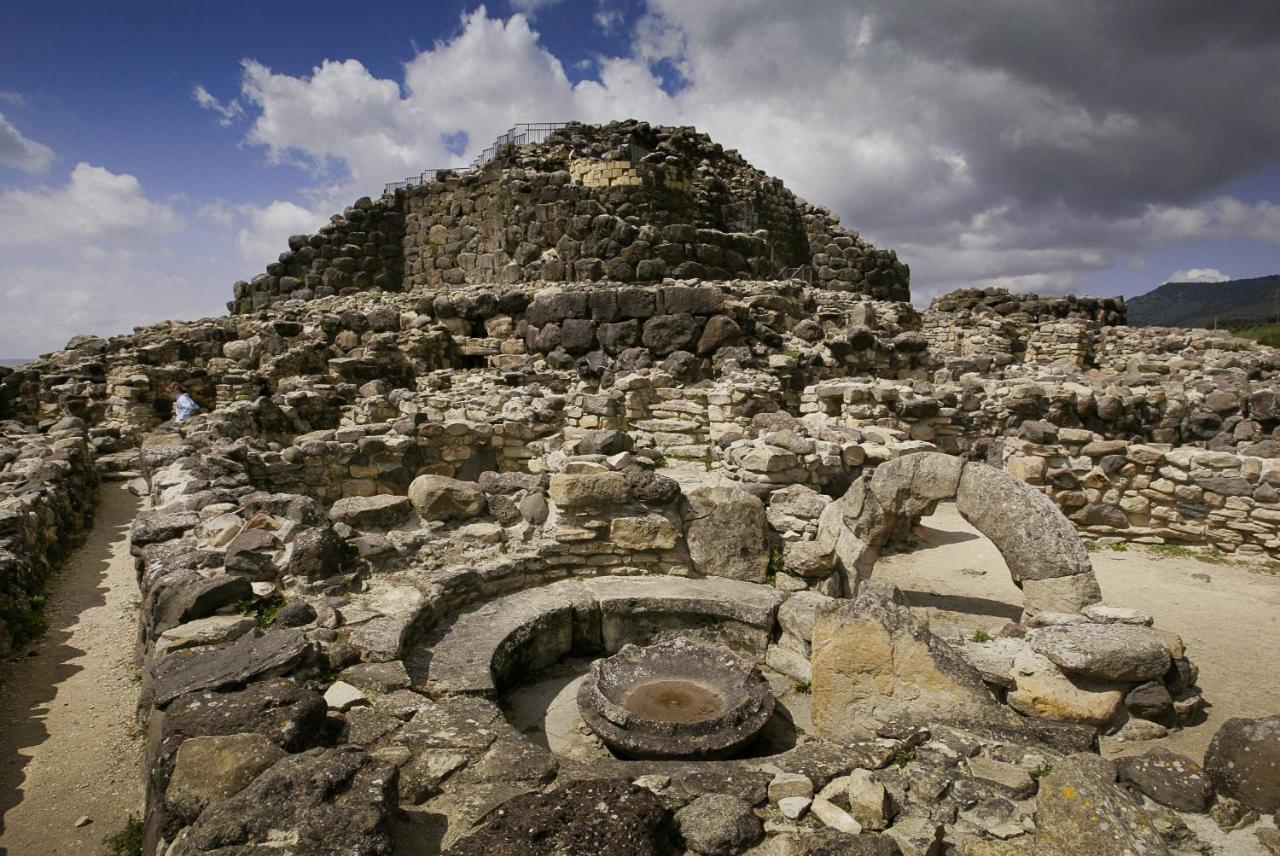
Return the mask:
<path id="1" fill-rule="evenodd" d="M 1280 354 L 908 289 L 691 128 L 357 200 L 225 317 L 0 369 L 0 653 L 123 479 L 148 856 L 1207 852 L 1203 812 L 1270 816 L 1275 717 L 1203 766 L 1098 755 L 1203 700 L 1080 534 L 1280 559 Z M 877 578 L 940 502 L 1023 591 L 995 638 Z M 598 736 L 641 724 L 666 760 Z"/>

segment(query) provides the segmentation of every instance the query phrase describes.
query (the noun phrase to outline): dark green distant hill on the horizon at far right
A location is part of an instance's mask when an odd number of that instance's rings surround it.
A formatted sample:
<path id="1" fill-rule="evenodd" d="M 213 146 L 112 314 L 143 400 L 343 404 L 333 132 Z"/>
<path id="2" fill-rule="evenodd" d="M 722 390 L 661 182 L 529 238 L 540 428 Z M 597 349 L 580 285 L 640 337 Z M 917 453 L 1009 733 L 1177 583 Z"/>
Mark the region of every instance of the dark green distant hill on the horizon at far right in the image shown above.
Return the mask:
<path id="1" fill-rule="evenodd" d="M 1280 315 L 1280 274 L 1225 283 L 1165 283 L 1126 301 L 1129 326 L 1242 328 Z"/>

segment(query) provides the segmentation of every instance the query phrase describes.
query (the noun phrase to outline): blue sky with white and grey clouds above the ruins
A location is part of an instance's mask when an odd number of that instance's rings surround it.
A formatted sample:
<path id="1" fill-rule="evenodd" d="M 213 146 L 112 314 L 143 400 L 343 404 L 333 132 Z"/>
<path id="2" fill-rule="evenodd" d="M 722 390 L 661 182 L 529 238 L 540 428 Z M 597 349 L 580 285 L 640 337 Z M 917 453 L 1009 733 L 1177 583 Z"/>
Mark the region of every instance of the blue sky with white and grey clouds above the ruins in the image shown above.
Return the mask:
<path id="1" fill-rule="evenodd" d="M 692 124 L 963 285 L 1280 273 L 1280 3 L 12 5 L 0 358 L 224 311 L 385 182 L 517 122 Z"/>

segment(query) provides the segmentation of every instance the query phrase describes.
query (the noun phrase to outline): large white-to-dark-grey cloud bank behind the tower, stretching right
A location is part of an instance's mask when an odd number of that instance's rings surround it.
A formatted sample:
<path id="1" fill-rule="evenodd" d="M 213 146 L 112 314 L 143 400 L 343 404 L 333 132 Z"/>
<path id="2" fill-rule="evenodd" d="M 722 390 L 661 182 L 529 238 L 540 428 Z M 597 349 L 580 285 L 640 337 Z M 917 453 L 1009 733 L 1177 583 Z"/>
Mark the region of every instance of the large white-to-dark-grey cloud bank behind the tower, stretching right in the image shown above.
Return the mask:
<path id="1" fill-rule="evenodd" d="M 630 55 L 598 58 L 595 79 L 576 84 L 526 15 L 492 18 L 480 6 L 406 63 L 402 81 L 356 60 L 306 77 L 246 61 L 248 141 L 310 166 L 323 188 L 307 207 L 319 211 L 467 160 L 517 122 L 694 124 L 897 248 L 920 298 L 989 283 L 1079 289 L 1093 271 L 1179 242 L 1280 243 L 1274 203 L 1204 201 L 1280 146 L 1280 120 L 1242 110 L 1265 99 L 1239 86 L 1260 56 L 1275 56 L 1274 44 L 1201 38 L 1206 27 L 1235 27 L 1233 15 L 1170 23 L 1103 3 L 1088 14 L 1034 4 L 993 15 L 924 1 L 925 15 L 888 0 L 650 0 Z M 599 0 L 596 10 L 613 6 Z M 1157 26 L 1190 41 L 1148 56 L 1143 33 Z M 1239 31 L 1256 37 L 1258 26 Z M 1018 47 L 1028 40 L 1046 55 Z M 1132 55 L 1116 56 L 1115 45 Z M 673 95 L 658 63 L 681 78 Z M 1221 74 L 1206 81 L 1206 63 Z M 1240 115 L 1251 116 L 1249 141 L 1212 131 Z M 445 145 L 458 132 L 467 157 Z"/>

